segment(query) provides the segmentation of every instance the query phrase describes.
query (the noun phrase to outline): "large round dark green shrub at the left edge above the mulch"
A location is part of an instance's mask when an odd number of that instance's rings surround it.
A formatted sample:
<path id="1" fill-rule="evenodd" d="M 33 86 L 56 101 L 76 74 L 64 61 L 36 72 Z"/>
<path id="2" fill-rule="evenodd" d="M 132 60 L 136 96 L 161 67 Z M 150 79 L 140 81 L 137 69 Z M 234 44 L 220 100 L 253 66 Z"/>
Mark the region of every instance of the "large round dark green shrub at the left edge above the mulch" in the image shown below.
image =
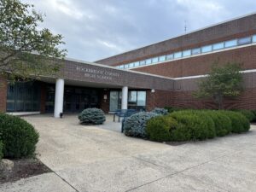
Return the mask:
<path id="1" fill-rule="evenodd" d="M 3 142 L 3 157 L 20 158 L 35 152 L 39 135 L 26 120 L 0 114 L 0 137 Z"/>

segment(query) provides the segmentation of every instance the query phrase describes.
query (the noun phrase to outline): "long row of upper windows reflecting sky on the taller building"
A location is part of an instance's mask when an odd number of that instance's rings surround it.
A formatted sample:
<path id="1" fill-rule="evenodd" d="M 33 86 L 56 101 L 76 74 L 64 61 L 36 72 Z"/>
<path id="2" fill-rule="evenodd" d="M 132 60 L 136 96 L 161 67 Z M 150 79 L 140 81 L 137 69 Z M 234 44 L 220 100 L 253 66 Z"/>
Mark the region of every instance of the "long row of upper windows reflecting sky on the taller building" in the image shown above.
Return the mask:
<path id="1" fill-rule="evenodd" d="M 195 49 L 178 51 L 170 55 L 160 55 L 160 56 L 149 58 L 143 61 L 135 61 L 125 65 L 117 66 L 117 67 L 127 69 L 132 67 L 146 66 L 146 65 L 155 64 L 158 62 L 176 60 L 176 59 L 188 57 L 191 55 L 200 55 L 200 54 L 208 53 L 208 52 L 219 50 L 219 49 L 229 49 L 232 47 L 241 46 L 244 44 L 253 44 L 253 43 L 256 43 L 256 35 L 249 36 L 246 38 L 236 38 L 229 41 L 220 42 L 217 44 L 209 44 L 209 45 L 205 45 Z"/>

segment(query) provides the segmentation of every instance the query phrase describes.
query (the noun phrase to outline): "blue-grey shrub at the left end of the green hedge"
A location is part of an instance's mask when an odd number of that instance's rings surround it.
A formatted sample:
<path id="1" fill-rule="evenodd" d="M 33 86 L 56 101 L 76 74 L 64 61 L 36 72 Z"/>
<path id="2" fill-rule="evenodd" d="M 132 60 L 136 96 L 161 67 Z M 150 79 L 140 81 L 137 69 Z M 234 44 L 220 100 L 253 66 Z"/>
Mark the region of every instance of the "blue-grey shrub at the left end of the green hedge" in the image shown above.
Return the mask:
<path id="1" fill-rule="evenodd" d="M 152 112 L 140 112 L 131 115 L 125 119 L 124 132 L 125 136 L 130 137 L 146 137 L 146 123 L 148 119 L 151 119 L 158 114 Z"/>

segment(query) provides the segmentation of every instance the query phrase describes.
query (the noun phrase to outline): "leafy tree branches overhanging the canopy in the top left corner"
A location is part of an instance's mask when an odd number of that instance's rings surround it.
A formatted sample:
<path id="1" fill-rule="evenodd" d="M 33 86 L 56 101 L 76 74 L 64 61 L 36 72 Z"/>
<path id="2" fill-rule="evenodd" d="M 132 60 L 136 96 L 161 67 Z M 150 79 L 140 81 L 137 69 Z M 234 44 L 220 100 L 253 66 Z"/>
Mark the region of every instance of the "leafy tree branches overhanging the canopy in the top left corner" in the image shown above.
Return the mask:
<path id="1" fill-rule="evenodd" d="M 53 58 L 64 58 L 61 35 L 40 29 L 43 16 L 33 5 L 19 0 L 0 0 L 0 75 L 26 79 L 59 71 Z"/>

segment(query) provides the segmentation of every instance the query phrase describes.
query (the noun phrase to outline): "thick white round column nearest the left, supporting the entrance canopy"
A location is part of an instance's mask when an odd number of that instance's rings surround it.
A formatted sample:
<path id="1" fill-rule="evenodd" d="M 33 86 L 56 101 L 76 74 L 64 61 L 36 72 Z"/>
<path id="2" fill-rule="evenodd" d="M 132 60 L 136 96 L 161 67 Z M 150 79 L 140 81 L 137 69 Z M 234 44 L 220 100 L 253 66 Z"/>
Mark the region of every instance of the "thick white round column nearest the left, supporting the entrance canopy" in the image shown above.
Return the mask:
<path id="1" fill-rule="evenodd" d="M 60 118 L 63 113 L 64 79 L 56 79 L 55 84 L 55 118 Z"/>

